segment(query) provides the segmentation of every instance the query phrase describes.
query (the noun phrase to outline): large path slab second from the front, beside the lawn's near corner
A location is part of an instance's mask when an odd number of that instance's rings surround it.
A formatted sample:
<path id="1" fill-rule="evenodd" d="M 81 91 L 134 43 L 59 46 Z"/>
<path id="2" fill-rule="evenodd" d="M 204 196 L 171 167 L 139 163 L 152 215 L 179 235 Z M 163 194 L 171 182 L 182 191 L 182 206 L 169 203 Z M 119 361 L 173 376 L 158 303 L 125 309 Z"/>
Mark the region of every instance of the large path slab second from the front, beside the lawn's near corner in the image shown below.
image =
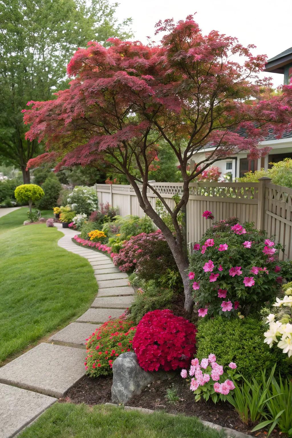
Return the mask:
<path id="1" fill-rule="evenodd" d="M 0 368 L 0 383 L 60 398 L 84 376 L 85 357 L 81 348 L 41 343 Z"/>

